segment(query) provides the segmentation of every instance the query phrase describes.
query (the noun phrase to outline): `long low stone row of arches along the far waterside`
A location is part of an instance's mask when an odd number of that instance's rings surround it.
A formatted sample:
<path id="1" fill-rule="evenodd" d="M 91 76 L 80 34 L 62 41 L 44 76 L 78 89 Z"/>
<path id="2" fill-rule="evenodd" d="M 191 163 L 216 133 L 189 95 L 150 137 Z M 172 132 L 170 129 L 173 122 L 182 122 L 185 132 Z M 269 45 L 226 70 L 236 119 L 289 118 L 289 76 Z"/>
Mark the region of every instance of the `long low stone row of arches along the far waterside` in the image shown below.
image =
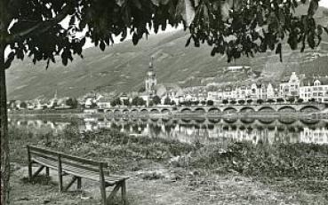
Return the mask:
<path id="1" fill-rule="evenodd" d="M 229 113 L 309 113 L 324 110 L 324 104 L 263 104 L 225 106 L 153 106 L 105 109 L 107 114 L 229 114 Z"/>

